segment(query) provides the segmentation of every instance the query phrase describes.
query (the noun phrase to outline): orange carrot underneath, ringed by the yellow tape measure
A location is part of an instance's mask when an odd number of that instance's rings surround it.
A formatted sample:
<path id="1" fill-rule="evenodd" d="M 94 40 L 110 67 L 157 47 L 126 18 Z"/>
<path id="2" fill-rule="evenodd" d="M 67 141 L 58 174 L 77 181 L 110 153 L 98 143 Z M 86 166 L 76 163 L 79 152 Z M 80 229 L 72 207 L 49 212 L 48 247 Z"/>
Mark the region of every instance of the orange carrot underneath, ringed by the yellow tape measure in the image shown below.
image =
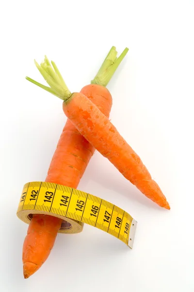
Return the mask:
<path id="1" fill-rule="evenodd" d="M 115 64 L 116 54 L 115 47 L 113 47 L 97 74 L 98 83 L 102 82 L 106 85 L 111 79 L 118 66 L 118 62 L 116 62 L 116 66 L 114 65 L 112 69 L 112 65 Z M 45 63 L 41 64 L 41 68 L 45 68 L 48 72 L 54 74 L 47 57 L 45 57 Z M 56 67 L 55 70 L 57 71 Z M 58 77 L 62 80 L 59 73 L 55 78 Z M 106 87 L 95 84 L 94 82 L 94 84 L 83 87 L 81 92 L 84 96 L 87 96 L 92 103 L 96 104 L 98 109 L 101 110 L 107 118 L 109 117 L 112 107 L 112 96 Z M 94 152 L 95 148 L 80 134 L 70 120 L 67 120 L 52 157 L 45 181 L 77 188 Z M 36 272 L 46 261 L 54 245 L 61 224 L 62 219 L 52 216 L 33 216 L 23 244 L 22 260 L 25 278 L 28 278 Z"/>

